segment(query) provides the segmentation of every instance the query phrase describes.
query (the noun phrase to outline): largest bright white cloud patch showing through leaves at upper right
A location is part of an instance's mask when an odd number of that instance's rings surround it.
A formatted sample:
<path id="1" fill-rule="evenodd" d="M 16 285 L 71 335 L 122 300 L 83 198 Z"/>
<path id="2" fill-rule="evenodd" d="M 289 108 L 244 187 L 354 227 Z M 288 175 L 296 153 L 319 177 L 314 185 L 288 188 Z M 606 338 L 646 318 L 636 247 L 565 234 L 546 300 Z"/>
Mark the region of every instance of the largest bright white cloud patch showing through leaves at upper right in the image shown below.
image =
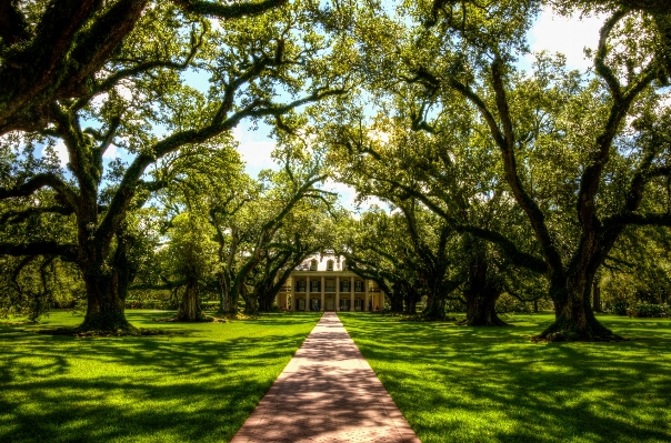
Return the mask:
<path id="1" fill-rule="evenodd" d="M 584 71 L 592 66 L 592 60 L 584 57 L 584 48 L 597 48 L 604 20 L 604 16 L 561 17 L 545 7 L 529 31 L 531 50 L 561 52 L 569 68 Z"/>

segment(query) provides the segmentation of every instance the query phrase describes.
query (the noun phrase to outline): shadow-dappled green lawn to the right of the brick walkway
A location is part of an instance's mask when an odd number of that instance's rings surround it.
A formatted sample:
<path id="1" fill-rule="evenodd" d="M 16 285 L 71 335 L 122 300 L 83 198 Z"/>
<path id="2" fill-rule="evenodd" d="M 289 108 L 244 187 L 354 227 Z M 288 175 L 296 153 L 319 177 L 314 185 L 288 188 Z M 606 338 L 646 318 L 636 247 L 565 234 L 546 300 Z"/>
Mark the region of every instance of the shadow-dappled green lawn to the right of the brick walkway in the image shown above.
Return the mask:
<path id="1" fill-rule="evenodd" d="M 532 343 L 551 314 L 464 328 L 339 313 L 430 442 L 671 442 L 671 320 L 600 316 L 623 343 Z"/>

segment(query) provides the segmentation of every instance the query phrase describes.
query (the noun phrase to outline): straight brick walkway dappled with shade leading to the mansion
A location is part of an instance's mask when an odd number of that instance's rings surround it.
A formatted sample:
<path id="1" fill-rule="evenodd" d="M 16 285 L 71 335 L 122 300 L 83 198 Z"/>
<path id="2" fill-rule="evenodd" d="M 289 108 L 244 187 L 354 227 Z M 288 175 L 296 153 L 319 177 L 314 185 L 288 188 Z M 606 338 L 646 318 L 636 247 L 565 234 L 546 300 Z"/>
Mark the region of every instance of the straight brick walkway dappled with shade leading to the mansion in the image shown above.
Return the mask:
<path id="1" fill-rule="evenodd" d="M 312 330 L 231 443 L 417 442 L 333 312 Z"/>

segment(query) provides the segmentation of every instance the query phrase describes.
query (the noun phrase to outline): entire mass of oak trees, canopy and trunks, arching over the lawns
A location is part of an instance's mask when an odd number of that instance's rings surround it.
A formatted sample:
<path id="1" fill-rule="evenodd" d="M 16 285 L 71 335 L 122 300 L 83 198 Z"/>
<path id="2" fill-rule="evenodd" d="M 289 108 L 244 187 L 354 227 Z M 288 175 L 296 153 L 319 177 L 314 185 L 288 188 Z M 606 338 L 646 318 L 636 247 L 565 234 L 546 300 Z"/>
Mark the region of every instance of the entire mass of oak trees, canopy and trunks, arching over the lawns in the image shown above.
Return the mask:
<path id="1" fill-rule="evenodd" d="M 588 72 L 521 67 L 549 4 L 607 17 Z M 254 313 L 328 249 L 394 311 L 459 300 L 502 325 L 503 293 L 547 296 L 540 339 L 619 340 L 592 291 L 665 241 L 670 78 L 654 1 L 3 1 L 0 300 L 76 269 L 82 329 L 132 332 L 133 285 L 179 288 L 182 320 L 204 318 L 201 290 Z M 243 172 L 243 122 L 270 125 L 278 170 Z M 329 180 L 393 212 L 353 220 Z"/>

